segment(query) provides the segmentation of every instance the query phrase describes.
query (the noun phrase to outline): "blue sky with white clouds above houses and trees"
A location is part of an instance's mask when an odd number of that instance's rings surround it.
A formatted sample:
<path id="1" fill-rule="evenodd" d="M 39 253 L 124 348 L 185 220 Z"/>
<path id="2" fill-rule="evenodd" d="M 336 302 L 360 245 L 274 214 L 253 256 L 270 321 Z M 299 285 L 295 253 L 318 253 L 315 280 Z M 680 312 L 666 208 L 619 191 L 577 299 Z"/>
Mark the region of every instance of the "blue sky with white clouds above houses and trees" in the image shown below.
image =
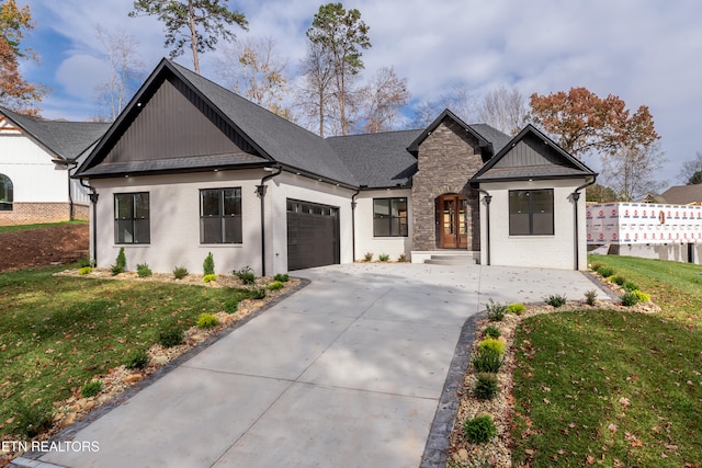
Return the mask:
<path id="1" fill-rule="evenodd" d="M 82 121 L 98 113 L 95 87 L 106 64 L 94 25 L 123 30 L 139 44 L 150 71 L 161 57 L 163 28 L 154 18 L 131 19 L 131 0 L 18 0 L 36 28 L 25 45 L 42 57 L 23 64 L 31 81 L 55 90 L 45 117 Z M 319 0 L 237 0 L 249 20 L 239 37 L 272 36 L 294 67 Z M 523 95 L 585 87 L 622 98 L 634 112 L 647 105 L 668 162 L 660 180 L 677 184 L 684 160 L 702 151 L 702 2 L 699 0 L 356 0 L 373 44 L 365 76 L 393 66 L 407 78 L 411 104 L 445 94 L 458 81 L 479 96 L 499 85 Z M 202 57 L 216 80 L 217 53 Z M 188 56 L 178 59 L 192 68 Z M 597 169 L 597 162 L 586 161 Z"/>

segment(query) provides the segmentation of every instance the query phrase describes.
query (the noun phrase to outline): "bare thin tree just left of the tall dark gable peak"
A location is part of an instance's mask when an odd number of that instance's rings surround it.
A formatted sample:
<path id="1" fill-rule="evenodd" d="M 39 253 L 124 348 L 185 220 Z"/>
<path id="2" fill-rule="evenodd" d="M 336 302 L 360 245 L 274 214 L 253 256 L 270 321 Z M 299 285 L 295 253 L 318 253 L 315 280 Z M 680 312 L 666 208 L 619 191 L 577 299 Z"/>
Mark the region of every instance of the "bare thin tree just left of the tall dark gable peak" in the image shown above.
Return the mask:
<path id="1" fill-rule="evenodd" d="M 106 121 L 113 122 L 139 88 L 145 77 L 145 65 L 138 58 L 139 44 L 125 31 L 109 31 L 94 26 L 95 37 L 110 65 L 110 79 L 95 88 Z"/>

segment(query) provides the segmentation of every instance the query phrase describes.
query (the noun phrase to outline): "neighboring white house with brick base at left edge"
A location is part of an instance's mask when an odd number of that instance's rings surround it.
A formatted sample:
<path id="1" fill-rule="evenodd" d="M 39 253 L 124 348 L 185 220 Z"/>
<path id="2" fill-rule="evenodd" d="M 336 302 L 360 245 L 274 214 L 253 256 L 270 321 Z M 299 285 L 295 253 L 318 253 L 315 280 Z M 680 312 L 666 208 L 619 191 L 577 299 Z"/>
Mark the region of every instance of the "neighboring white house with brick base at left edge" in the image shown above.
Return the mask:
<path id="1" fill-rule="evenodd" d="M 69 172 L 107 127 L 0 107 L 0 225 L 88 219 L 88 191 Z"/>

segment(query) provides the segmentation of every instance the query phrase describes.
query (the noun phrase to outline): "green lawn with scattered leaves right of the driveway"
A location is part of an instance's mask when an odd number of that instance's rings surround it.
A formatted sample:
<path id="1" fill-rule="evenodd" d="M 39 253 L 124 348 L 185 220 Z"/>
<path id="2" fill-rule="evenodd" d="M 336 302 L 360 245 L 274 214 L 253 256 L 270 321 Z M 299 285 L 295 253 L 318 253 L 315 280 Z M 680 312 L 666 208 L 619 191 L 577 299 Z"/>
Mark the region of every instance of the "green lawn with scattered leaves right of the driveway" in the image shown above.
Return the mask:
<path id="1" fill-rule="evenodd" d="M 564 311 L 518 328 L 516 466 L 686 466 L 702 459 L 699 265 L 597 256 L 663 312 Z"/>

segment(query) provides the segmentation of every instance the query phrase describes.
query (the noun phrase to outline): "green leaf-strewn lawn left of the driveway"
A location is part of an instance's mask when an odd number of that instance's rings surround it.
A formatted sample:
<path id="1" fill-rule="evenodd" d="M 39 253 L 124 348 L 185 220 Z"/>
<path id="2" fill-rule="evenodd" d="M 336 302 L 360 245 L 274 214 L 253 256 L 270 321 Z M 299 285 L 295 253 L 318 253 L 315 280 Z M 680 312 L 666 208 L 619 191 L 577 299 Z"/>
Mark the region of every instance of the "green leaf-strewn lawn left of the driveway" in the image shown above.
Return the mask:
<path id="1" fill-rule="evenodd" d="M 247 290 L 53 276 L 63 266 L 0 273 L 0 438 L 23 404 L 64 400 L 158 341 L 161 323 L 191 327 Z"/>

